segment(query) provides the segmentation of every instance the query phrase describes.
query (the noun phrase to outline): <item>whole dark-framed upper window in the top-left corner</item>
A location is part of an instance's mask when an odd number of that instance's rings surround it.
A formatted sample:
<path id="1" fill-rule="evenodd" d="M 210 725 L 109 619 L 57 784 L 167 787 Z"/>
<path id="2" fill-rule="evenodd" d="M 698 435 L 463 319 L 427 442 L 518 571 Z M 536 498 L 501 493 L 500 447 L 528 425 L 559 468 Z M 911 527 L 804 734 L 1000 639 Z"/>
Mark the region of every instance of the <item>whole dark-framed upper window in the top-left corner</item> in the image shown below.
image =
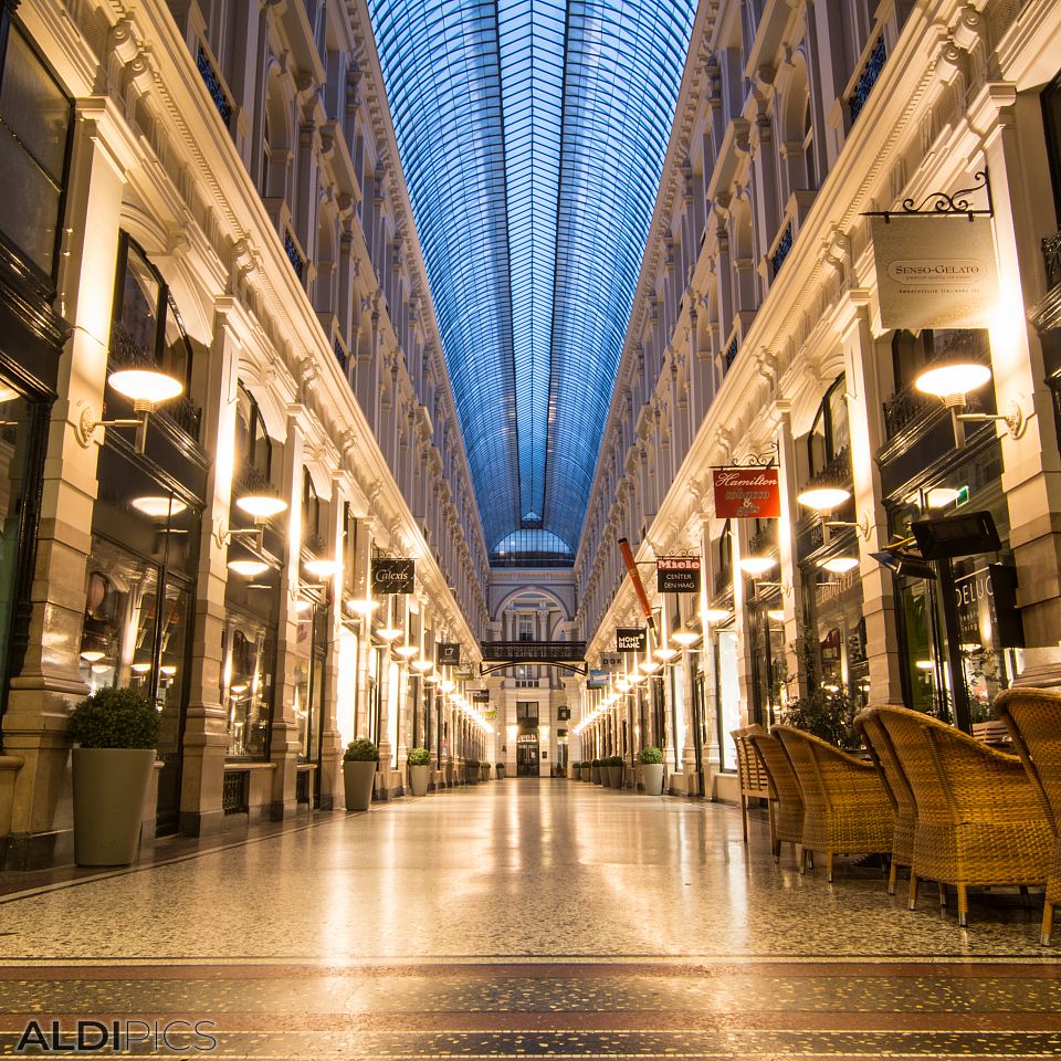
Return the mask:
<path id="1" fill-rule="evenodd" d="M 0 232 L 54 280 L 72 107 L 10 11 L 0 13 Z"/>

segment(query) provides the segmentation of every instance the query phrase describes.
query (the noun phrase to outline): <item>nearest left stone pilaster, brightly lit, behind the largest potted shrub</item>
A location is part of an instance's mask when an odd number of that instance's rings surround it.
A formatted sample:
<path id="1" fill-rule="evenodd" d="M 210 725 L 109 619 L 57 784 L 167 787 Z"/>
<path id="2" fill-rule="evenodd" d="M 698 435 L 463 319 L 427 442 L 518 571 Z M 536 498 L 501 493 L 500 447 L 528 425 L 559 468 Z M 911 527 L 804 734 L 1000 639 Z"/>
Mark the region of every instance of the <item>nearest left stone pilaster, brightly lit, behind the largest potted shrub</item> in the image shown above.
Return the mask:
<path id="1" fill-rule="evenodd" d="M 88 692 L 78 663 L 103 438 L 97 428 L 85 445 L 78 427 L 83 412 L 94 419 L 102 412 L 122 196 L 134 165 L 117 147 L 119 119 L 111 106 L 78 102 L 74 120 L 69 254 L 59 285 L 73 332 L 60 360 L 60 399 L 49 428 L 28 647 L 3 716 L 4 749 L 22 759 L 4 855 L 4 864 L 17 869 L 65 861 L 72 851 L 66 718 Z"/>

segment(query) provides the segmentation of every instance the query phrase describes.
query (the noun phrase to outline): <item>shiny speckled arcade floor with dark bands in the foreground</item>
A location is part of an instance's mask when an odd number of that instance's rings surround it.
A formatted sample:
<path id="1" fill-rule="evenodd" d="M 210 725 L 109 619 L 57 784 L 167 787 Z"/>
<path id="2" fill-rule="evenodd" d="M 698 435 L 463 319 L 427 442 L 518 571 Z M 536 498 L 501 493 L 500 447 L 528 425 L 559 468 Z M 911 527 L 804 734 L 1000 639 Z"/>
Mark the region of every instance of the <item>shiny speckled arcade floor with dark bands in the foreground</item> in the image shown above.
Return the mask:
<path id="1" fill-rule="evenodd" d="M 963 931 L 732 807 L 491 781 L 0 896 L 0 1049 L 133 1017 L 212 1021 L 123 1044 L 197 1057 L 1059 1057 L 1040 903 Z"/>

